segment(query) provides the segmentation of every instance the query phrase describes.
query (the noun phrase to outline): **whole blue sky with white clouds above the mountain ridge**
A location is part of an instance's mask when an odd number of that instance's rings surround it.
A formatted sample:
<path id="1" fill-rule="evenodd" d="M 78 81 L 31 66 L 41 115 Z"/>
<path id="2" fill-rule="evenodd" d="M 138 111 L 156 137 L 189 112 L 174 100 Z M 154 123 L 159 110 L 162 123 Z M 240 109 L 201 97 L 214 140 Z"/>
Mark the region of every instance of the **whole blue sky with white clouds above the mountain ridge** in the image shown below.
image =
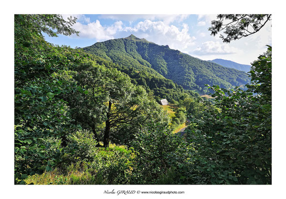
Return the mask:
<path id="1" fill-rule="evenodd" d="M 63 15 L 67 18 L 70 15 Z M 272 44 L 271 21 L 258 33 L 230 44 L 211 36 L 208 27 L 216 15 L 195 14 L 77 14 L 74 28 L 79 36 L 45 38 L 57 45 L 86 47 L 96 42 L 127 37 L 130 34 L 159 45 L 169 45 L 191 56 L 203 59 L 227 59 L 250 64 Z"/>

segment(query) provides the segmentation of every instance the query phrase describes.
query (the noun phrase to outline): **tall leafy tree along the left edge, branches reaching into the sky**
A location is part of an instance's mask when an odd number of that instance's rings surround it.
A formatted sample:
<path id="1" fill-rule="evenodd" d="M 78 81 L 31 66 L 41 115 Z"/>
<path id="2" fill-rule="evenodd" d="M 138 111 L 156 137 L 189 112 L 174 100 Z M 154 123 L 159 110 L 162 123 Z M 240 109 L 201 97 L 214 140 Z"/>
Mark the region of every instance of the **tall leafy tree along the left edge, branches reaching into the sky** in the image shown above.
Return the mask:
<path id="1" fill-rule="evenodd" d="M 59 74 L 72 56 L 46 43 L 42 32 L 76 33 L 60 15 L 21 15 L 14 18 L 14 145 L 15 184 L 28 175 L 50 171 L 59 162 L 59 143 L 70 131 L 70 115 L 60 93 L 73 88 Z M 56 30 L 56 32 L 54 32 Z"/>

